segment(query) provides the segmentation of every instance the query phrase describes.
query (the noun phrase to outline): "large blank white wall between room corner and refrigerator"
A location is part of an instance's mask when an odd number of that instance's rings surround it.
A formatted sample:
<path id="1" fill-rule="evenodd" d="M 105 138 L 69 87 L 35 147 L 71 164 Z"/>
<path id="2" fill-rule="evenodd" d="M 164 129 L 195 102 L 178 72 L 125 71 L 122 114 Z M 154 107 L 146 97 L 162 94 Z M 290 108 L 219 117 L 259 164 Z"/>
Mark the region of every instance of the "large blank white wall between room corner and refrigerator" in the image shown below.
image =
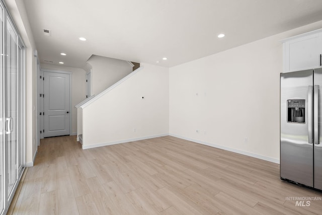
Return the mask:
<path id="1" fill-rule="evenodd" d="M 322 22 L 171 67 L 170 134 L 278 163 L 280 40 L 318 28 Z"/>

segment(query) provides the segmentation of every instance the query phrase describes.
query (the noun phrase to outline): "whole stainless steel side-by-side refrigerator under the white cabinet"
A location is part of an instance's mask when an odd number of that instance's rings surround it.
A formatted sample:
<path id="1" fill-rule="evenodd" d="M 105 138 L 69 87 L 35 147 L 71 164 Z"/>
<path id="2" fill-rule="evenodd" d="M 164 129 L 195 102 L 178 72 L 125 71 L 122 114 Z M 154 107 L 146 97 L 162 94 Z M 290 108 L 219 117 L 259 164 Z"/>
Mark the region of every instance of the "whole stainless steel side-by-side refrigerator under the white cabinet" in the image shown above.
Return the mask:
<path id="1" fill-rule="evenodd" d="M 280 176 L 322 190 L 322 68 L 281 74 Z"/>

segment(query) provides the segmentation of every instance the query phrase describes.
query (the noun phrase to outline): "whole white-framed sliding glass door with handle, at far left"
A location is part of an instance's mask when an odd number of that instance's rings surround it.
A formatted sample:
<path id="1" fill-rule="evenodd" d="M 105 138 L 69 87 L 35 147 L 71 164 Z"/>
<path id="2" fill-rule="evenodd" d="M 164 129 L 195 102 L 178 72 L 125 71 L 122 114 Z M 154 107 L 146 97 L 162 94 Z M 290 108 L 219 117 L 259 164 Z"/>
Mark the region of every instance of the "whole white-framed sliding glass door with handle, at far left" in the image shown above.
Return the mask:
<path id="1" fill-rule="evenodd" d="M 24 46 L 0 4 L 0 214 L 7 212 L 24 170 Z"/>

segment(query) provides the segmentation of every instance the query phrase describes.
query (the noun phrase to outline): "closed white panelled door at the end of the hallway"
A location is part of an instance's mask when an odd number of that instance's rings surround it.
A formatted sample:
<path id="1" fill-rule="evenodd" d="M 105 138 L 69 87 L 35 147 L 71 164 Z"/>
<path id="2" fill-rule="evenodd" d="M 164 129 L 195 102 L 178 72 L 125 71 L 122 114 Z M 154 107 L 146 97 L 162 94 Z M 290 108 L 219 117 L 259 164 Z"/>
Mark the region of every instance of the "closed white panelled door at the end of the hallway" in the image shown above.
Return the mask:
<path id="1" fill-rule="evenodd" d="M 44 71 L 44 137 L 69 135 L 69 74 Z"/>

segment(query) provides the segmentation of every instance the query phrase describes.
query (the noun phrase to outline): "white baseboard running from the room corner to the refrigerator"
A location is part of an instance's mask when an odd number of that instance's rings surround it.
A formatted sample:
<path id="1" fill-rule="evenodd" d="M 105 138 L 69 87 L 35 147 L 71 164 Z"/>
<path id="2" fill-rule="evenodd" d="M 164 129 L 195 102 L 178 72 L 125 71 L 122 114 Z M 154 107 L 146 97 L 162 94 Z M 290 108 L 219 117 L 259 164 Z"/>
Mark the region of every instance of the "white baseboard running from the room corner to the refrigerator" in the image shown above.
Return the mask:
<path id="1" fill-rule="evenodd" d="M 224 146 L 220 146 L 220 145 L 216 145 L 216 144 L 211 144 L 209 142 L 200 141 L 200 140 L 196 140 L 196 139 L 192 139 L 192 138 L 188 138 L 188 137 L 184 137 L 184 136 L 179 136 L 179 135 L 172 134 L 172 133 L 170 133 L 169 135 L 177 137 L 177 138 L 180 138 L 180 139 L 189 140 L 189 141 L 192 141 L 192 142 L 197 142 L 197 144 L 202 144 L 202 145 L 206 145 L 206 146 L 209 146 L 209 147 L 214 147 L 214 148 L 226 150 L 226 151 L 229 151 L 229 152 L 238 153 L 238 154 L 241 154 L 241 155 L 246 155 L 246 156 L 250 156 L 250 157 L 253 157 L 253 158 L 258 158 L 258 159 L 261 159 L 261 160 L 264 160 L 264 161 L 269 161 L 269 162 L 273 162 L 273 163 L 276 163 L 276 164 L 280 163 L 280 160 L 276 159 L 276 158 L 271 158 L 271 157 L 267 157 L 267 156 L 263 156 L 263 155 L 258 155 L 258 154 L 255 154 L 255 153 L 236 150 L 236 149 L 233 149 L 233 148 L 224 147 Z"/>

